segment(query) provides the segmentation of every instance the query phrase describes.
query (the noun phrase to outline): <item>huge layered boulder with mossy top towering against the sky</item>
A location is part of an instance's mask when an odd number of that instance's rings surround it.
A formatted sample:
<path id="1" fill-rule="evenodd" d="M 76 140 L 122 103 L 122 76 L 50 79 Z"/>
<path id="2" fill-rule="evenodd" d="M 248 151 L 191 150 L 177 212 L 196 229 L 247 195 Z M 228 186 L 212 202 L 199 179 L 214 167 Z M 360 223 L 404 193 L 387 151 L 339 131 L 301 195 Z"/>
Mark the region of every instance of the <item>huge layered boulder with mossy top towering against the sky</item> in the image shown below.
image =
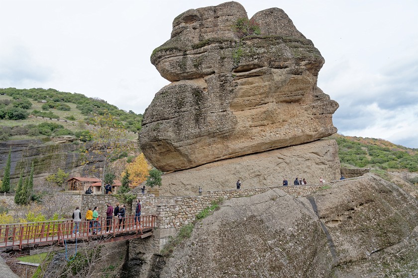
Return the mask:
<path id="1" fill-rule="evenodd" d="M 187 10 L 152 53 L 172 81 L 145 111 L 139 135 L 156 168 L 188 169 L 336 132 L 338 104 L 316 86 L 324 59 L 312 41 L 279 8 L 247 20 L 237 2 Z M 252 31 L 237 31 L 240 23 Z"/>

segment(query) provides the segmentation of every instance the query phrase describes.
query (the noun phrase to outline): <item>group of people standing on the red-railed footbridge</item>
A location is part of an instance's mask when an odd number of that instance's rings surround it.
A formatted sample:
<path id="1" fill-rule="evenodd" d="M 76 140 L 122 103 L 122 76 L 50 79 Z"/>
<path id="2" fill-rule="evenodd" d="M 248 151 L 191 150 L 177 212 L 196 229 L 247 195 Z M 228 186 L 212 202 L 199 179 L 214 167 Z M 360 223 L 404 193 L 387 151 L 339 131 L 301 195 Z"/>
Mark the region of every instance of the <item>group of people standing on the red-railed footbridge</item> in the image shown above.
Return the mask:
<path id="1" fill-rule="evenodd" d="M 112 220 L 114 217 L 115 221 L 115 231 L 122 231 L 125 229 L 125 219 L 126 219 L 126 207 L 125 205 L 120 206 L 119 203 L 116 203 L 116 206 L 113 208 L 110 203 L 106 204 L 106 233 L 112 232 Z M 141 202 L 140 200 L 136 200 L 136 208 L 135 208 L 135 225 L 134 228 L 140 227 L 140 216 L 141 216 Z M 89 221 L 89 232 L 92 234 L 97 234 L 98 232 L 102 231 L 102 227 L 99 221 L 99 212 L 98 207 L 95 207 L 93 210 L 89 208 L 86 212 L 86 220 Z M 73 235 L 80 234 L 80 222 L 82 221 L 82 215 L 80 211 L 80 207 L 77 207 L 73 212 L 73 221 L 74 221 L 74 228 L 73 228 Z"/>

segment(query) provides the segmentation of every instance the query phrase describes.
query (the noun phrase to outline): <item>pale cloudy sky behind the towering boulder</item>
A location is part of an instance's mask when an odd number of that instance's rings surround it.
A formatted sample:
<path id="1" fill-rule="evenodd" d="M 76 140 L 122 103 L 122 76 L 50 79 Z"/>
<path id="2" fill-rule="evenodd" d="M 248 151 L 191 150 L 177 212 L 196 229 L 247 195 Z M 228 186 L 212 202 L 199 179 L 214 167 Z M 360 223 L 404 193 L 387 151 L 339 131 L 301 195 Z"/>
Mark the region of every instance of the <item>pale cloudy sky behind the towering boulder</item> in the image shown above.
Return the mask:
<path id="1" fill-rule="evenodd" d="M 173 19 L 217 0 L 0 0 L 0 87 L 54 88 L 143 113 L 169 82 L 151 65 Z M 325 58 L 338 133 L 418 148 L 417 0 L 241 0 L 279 7 Z"/>

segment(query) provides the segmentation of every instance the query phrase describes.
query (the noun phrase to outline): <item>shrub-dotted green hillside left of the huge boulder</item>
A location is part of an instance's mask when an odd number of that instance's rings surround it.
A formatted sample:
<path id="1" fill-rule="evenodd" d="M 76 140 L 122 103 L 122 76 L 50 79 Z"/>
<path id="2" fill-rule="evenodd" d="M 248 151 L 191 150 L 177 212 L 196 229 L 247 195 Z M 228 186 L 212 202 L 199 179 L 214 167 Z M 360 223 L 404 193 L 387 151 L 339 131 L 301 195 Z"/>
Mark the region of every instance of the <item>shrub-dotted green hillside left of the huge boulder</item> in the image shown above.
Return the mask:
<path id="1" fill-rule="evenodd" d="M 0 88 L 0 140 L 72 135 L 86 139 L 95 115 L 108 113 L 127 139 L 141 130 L 142 115 L 126 112 L 98 98 L 55 89 Z"/>

